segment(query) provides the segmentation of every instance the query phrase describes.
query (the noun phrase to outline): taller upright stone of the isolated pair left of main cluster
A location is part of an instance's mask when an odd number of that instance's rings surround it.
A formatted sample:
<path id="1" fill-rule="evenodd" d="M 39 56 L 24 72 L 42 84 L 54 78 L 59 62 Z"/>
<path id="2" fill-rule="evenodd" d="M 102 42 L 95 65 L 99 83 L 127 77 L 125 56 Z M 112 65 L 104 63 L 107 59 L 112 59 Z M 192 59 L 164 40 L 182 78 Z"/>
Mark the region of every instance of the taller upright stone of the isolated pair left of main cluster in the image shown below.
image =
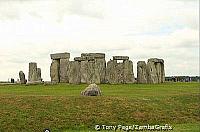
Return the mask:
<path id="1" fill-rule="evenodd" d="M 29 72 L 28 72 L 28 81 L 34 82 L 37 80 L 37 63 L 31 62 L 29 63 Z"/>

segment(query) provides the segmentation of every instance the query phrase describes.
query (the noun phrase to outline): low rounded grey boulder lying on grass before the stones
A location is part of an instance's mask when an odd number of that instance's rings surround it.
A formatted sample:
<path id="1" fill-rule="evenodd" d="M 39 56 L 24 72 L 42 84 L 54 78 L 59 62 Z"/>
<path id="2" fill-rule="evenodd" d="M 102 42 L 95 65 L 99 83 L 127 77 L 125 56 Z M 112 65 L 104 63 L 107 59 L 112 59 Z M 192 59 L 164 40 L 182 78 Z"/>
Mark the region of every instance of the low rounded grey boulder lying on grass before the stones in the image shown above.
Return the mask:
<path id="1" fill-rule="evenodd" d="M 85 90 L 81 92 L 83 96 L 100 96 L 101 90 L 96 84 L 90 84 Z"/>

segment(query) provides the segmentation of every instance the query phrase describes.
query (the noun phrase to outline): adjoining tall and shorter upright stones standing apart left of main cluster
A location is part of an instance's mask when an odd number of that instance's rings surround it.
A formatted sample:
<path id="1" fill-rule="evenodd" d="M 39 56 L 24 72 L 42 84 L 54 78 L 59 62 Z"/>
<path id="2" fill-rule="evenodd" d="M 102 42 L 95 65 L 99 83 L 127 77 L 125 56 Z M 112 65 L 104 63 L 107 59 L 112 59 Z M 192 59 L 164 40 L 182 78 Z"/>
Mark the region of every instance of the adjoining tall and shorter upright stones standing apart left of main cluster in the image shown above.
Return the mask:
<path id="1" fill-rule="evenodd" d="M 30 62 L 29 63 L 29 72 L 28 72 L 28 82 L 41 82 L 41 69 L 37 68 L 37 63 Z"/>

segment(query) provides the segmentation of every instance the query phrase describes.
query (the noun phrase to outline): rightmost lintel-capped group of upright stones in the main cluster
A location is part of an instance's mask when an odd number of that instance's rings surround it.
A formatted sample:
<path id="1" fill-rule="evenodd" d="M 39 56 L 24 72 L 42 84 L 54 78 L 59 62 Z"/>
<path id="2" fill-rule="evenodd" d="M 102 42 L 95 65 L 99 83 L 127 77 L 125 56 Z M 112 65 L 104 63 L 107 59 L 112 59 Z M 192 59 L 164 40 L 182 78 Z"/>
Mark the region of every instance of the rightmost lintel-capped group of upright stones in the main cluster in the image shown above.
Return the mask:
<path id="1" fill-rule="evenodd" d="M 163 83 L 165 78 L 164 60 L 151 58 L 147 62 L 148 83 Z"/>

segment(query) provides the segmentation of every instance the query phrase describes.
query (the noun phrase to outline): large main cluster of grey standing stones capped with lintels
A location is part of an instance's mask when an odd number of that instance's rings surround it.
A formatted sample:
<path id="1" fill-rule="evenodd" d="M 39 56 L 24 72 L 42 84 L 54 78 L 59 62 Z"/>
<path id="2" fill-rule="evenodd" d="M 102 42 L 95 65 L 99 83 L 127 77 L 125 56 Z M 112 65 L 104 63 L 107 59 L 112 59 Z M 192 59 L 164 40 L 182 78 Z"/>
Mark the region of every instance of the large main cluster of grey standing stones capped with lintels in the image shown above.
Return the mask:
<path id="1" fill-rule="evenodd" d="M 128 56 L 113 56 L 113 60 L 107 62 L 104 53 L 82 53 L 69 61 L 70 53 L 56 53 L 50 55 L 51 82 L 71 84 L 120 84 L 135 83 L 133 62 Z M 120 60 L 120 62 L 119 62 Z M 37 67 L 31 64 L 34 71 Z M 30 72 L 31 78 L 34 73 Z M 30 77 L 29 77 L 30 78 Z M 164 60 L 151 58 L 147 64 L 145 61 L 137 63 L 137 83 L 163 83 L 165 78 Z"/>

